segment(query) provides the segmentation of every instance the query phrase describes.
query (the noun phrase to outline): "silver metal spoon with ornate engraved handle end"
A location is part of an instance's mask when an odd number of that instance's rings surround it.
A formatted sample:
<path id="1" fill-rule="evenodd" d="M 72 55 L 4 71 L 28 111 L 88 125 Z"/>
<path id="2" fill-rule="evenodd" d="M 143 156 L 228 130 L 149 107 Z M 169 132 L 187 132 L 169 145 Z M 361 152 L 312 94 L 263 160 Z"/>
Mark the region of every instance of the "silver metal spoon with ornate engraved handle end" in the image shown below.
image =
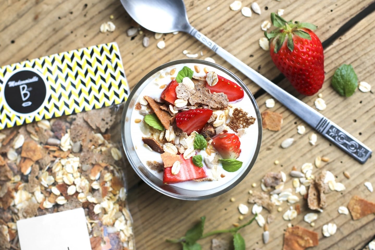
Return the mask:
<path id="1" fill-rule="evenodd" d="M 244 75 L 284 104 L 302 120 L 336 144 L 360 163 L 365 163 L 372 151 L 344 129 L 324 117 L 282 88 L 273 84 L 225 49 L 208 39 L 190 25 L 183 0 L 121 0 L 127 13 L 140 25 L 158 33 L 184 31 L 228 61 Z"/>

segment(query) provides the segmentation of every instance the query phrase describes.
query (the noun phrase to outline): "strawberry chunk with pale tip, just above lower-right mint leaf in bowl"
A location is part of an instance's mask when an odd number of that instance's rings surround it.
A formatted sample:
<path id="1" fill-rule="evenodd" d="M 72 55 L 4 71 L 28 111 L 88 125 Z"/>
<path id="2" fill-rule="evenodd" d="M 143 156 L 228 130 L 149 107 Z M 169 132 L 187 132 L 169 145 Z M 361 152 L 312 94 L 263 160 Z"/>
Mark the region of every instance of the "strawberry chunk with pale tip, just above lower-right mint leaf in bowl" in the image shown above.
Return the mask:
<path id="1" fill-rule="evenodd" d="M 223 133 L 217 135 L 212 139 L 212 145 L 224 159 L 237 159 L 240 156 L 241 142 L 236 134 Z"/>

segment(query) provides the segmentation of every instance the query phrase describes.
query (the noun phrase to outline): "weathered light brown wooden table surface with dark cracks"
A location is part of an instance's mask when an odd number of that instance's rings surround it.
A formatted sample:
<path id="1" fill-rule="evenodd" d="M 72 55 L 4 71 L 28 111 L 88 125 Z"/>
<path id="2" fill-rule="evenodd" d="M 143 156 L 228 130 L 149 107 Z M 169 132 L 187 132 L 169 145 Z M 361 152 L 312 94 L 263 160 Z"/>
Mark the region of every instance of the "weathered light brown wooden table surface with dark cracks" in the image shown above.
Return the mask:
<path id="1" fill-rule="evenodd" d="M 189 20 L 195 28 L 312 107 L 317 95 L 305 97 L 297 94 L 273 65 L 269 52 L 259 47 L 258 40 L 263 36 L 261 22 L 269 19 L 270 13 L 278 9 L 285 10 L 285 19 L 318 25 L 316 33 L 323 42 L 326 72 L 319 93 L 323 94 L 327 109 L 321 113 L 372 150 L 375 149 L 374 94 L 357 90 L 353 96 L 345 98 L 330 87 L 333 73 L 345 63 L 353 65 L 359 81 L 366 81 L 375 88 L 375 43 L 372 41 L 375 37 L 374 1 L 258 0 L 262 13 L 253 13 L 251 18 L 243 16 L 240 11 L 230 10 L 232 0 L 184 2 Z M 250 6 L 251 3 L 251 0 L 242 1 L 243 6 Z M 143 34 L 128 37 L 126 30 L 135 24 L 118 0 L 0 0 L 0 6 L 0 65 L 114 41 L 120 47 L 126 76 L 130 87 L 133 87 L 156 66 L 186 58 L 182 53 L 186 49 L 191 54 L 198 53 L 198 58 L 212 57 L 236 73 L 255 95 L 261 112 L 267 109 L 265 100 L 270 98 L 269 94 L 193 37 L 181 32 L 165 34 L 161 38 L 165 40 L 164 49 L 156 47 L 158 41 L 154 39 L 154 33 L 144 28 L 140 29 Z M 208 6 L 210 10 L 207 10 Z M 114 16 L 113 20 L 110 20 L 111 15 Z M 115 31 L 100 33 L 100 25 L 107 21 L 113 21 Z M 147 48 L 142 46 L 144 36 L 150 37 Z M 264 174 L 270 171 L 288 174 L 293 166 L 300 169 L 303 163 L 313 162 L 317 156 L 328 157 L 329 162 L 323 163 L 321 169 L 314 168 L 313 174 L 322 169 L 329 170 L 336 175 L 337 181 L 345 184 L 346 190 L 327 195 L 328 206 L 319 214 L 314 227 L 303 221 L 303 216 L 310 210 L 306 201 L 301 199 L 302 213 L 291 223 L 318 233 L 319 246 L 312 249 L 357 250 L 374 238 L 374 214 L 353 221 L 350 216 L 340 215 L 337 211 L 339 206 L 346 206 L 353 195 L 375 201 L 375 193 L 370 193 L 363 185 L 365 181 L 375 185 L 374 157 L 361 165 L 320 135 L 317 144 L 311 146 L 308 142 L 308 136 L 313 132 L 311 127 L 278 102 L 270 110 L 283 115 L 281 131 L 263 130 L 260 154 L 251 172 L 239 185 L 219 197 L 204 201 L 180 201 L 166 197 L 143 183 L 128 166 L 128 199 L 137 249 L 181 249 L 180 246 L 165 243 L 165 239 L 182 236 L 203 215 L 207 216 L 205 231 L 231 228 L 233 223 L 243 223 L 252 215 L 248 214 L 243 221 L 239 221 L 237 207 L 240 203 L 247 204 L 249 190 L 261 191 L 260 181 Z M 306 126 L 305 134 L 297 134 L 298 125 Z M 294 144 L 282 149 L 279 145 L 290 137 L 295 139 Z M 274 164 L 275 160 L 279 161 L 278 165 Z M 343 171 L 350 173 L 349 180 L 344 177 Z M 288 176 L 285 187 L 292 187 L 291 181 L 292 178 Z M 257 187 L 253 188 L 252 183 L 257 183 Z M 231 198 L 235 201 L 230 202 Z M 248 205 L 251 207 L 251 204 Z M 263 229 L 256 223 L 241 230 L 246 249 L 282 249 L 284 229 L 288 224 L 282 219 L 282 214 L 288 205 L 284 202 L 281 207 L 283 212 L 272 213 L 275 221 L 269 225 L 268 244 L 263 244 Z M 261 214 L 266 217 L 268 213 L 263 210 Z M 329 222 L 336 223 L 338 230 L 335 235 L 326 238 L 322 234 L 322 226 Z M 202 249 L 210 249 L 211 238 L 199 241 Z M 220 238 L 231 240 L 228 235 L 221 235 Z"/>

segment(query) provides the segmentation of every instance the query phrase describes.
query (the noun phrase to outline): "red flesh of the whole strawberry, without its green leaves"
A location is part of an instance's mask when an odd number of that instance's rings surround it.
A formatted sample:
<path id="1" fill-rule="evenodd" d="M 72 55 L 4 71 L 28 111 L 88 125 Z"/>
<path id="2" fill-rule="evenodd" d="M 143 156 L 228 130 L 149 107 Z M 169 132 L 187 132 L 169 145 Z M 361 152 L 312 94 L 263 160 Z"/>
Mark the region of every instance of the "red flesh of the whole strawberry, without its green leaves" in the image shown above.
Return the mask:
<path id="1" fill-rule="evenodd" d="M 270 54 L 276 67 L 291 82 L 294 88 L 306 96 L 317 93 L 324 82 L 323 46 L 318 36 L 304 28 L 310 34 L 311 40 L 297 35 L 293 36 L 293 52 L 284 41 L 278 53 L 274 52 L 275 43 L 270 43 Z"/>

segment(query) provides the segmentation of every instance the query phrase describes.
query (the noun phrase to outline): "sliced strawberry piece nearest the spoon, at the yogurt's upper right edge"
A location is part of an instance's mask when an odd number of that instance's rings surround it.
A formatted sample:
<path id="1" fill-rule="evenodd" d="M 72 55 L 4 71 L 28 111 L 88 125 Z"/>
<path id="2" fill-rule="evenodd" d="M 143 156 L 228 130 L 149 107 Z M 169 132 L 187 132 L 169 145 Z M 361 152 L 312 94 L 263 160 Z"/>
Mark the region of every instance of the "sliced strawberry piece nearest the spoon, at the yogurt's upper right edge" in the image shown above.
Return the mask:
<path id="1" fill-rule="evenodd" d="M 217 76 L 219 81 L 214 86 L 206 84 L 206 88 L 212 93 L 224 93 L 228 97 L 229 102 L 240 100 L 243 98 L 243 89 L 236 83 L 229 81 L 222 76 Z"/>

